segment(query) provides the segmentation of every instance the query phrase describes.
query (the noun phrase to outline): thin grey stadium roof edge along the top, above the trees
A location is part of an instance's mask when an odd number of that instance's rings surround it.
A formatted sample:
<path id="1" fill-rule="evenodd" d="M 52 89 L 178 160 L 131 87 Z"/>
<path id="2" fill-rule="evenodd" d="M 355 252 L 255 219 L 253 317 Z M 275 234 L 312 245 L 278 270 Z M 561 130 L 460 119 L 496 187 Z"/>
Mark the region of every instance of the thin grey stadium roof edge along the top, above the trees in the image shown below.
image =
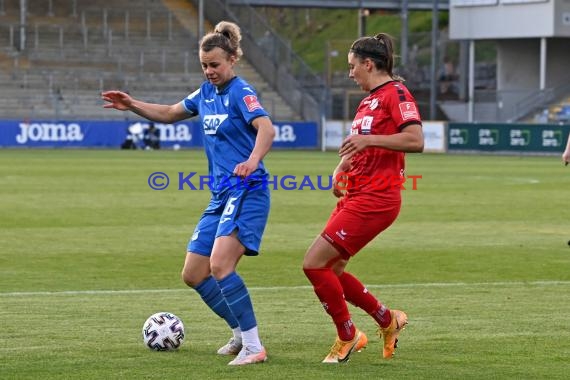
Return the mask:
<path id="1" fill-rule="evenodd" d="M 409 10 L 431 10 L 435 0 L 408 0 Z M 402 0 L 226 0 L 231 5 L 297 8 L 401 9 Z M 449 10 L 449 0 L 438 0 L 439 10 Z"/>

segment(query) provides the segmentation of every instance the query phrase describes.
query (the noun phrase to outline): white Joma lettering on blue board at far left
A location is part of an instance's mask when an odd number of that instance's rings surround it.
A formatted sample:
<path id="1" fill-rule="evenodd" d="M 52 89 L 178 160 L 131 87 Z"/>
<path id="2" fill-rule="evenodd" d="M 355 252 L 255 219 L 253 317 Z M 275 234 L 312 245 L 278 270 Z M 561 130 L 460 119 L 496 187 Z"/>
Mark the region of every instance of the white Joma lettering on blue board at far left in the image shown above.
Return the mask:
<path id="1" fill-rule="evenodd" d="M 79 124 L 70 123 L 20 123 L 18 144 L 29 141 L 82 141 L 83 133 Z"/>

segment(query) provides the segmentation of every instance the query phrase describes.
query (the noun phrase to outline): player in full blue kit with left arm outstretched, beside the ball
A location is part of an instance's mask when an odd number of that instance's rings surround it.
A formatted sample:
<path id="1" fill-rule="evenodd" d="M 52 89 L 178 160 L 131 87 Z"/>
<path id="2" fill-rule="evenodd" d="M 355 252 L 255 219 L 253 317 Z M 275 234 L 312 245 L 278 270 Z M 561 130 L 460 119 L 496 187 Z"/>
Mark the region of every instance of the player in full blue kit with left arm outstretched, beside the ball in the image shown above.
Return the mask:
<path id="1" fill-rule="evenodd" d="M 270 195 L 267 186 L 255 181 L 268 177 L 262 159 L 275 136 L 255 90 L 234 73 L 242 56 L 240 40 L 240 28 L 226 21 L 202 38 L 199 54 L 207 81 L 180 103 L 152 104 L 122 91 L 102 93 L 104 107 L 156 122 L 200 116 L 212 197 L 188 243 L 182 279 L 232 329 L 233 336 L 218 350 L 235 355 L 229 365 L 267 359 L 248 289 L 236 267 L 243 255 L 259 252 Z M 240 179 L 248 178 L 244 186 Z"/>

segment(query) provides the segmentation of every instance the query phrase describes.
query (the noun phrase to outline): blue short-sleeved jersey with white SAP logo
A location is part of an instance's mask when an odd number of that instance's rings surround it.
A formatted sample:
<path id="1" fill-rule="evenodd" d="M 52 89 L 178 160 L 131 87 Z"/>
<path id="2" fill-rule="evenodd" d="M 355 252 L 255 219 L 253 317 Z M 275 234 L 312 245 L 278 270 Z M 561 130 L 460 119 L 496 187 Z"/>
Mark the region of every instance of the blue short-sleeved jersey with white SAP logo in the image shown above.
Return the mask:
<path id="1" fill-rule="evenodd" d="M 234 168 L 247 161 L 255 145 L 257 130 L 251 122 L 269 115 L 257 100 L 255 90 L 240 77 L 231 79 L 221 90 L 204 82 L 182 101 L 182 106 L 191 115 L 200 116 L 212 200 L 224 202 L 228 190 L 238 183 Z M 267 176 L 263 162 L 251 174 L 260 180 Z"/>

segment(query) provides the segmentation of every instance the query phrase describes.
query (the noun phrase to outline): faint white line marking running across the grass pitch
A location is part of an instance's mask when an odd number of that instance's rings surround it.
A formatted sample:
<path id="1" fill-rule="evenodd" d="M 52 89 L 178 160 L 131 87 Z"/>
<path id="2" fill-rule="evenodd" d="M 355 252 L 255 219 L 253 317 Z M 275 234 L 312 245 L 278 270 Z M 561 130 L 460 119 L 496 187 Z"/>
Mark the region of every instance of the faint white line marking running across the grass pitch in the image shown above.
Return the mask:
<path id="1" fill-rule="evenodd" d="M 426 282 L 411 284 L 373 284 L 367 288 L 482 288 L 497 286 L 565 286 L 570 281 L 499 281 L 499 282 Z M 283 291 L 283 290 L 309 290 L 309 285 L 300 286 L 252 286 L 250 291 Z M 0 292 L 0 297 L 33 297 L 33 296 L 81 296 L 81 295 L 120 295 L 120 294 L 152 294 L 187 292 L 189 288 L 181 289 L 118 289 L 118 290 L 63 290 L 58 292 Z"/>

